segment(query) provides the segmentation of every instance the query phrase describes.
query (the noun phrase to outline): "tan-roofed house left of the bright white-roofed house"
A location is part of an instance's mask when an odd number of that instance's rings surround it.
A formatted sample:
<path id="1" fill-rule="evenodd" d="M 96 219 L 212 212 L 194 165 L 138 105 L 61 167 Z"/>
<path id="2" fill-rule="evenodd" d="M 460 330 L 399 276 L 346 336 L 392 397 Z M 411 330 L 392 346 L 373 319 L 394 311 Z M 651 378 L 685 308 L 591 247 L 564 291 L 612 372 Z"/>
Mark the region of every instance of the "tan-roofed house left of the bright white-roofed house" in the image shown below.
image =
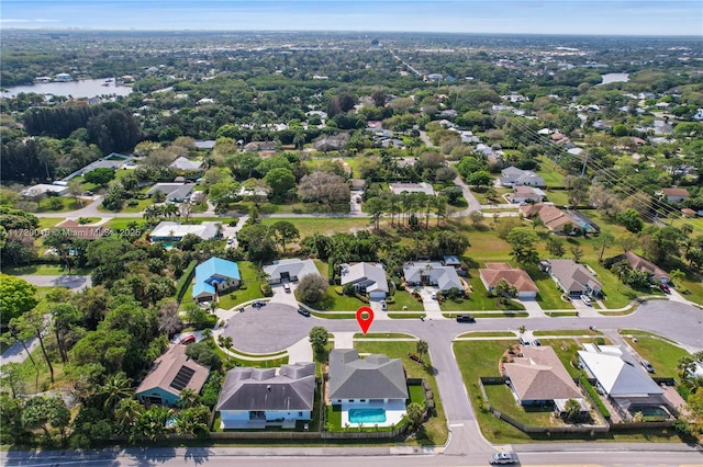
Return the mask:
<path id="1" fill-rule="evenodd" d="M 555 400 L 576 399 L 588 412 L 589 406 L 554 349 L 523 348 L 522 357 L 503 364 L 510 387 L 521 406 L 539 406 Z"/>

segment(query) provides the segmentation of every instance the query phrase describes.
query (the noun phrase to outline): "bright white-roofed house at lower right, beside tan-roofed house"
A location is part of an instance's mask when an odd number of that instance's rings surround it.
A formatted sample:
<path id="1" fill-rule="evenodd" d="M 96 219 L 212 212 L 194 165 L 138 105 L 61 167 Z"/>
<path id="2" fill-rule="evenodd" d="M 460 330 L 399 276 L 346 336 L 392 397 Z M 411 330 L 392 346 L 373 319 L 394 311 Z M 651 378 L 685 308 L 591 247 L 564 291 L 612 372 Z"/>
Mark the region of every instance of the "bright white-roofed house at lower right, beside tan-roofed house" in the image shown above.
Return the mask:
<path id="1" fill-rule="evenodd" d="M 581 367 L 617 407 L 634 414 L 641 407 L 669 406 L 659 385 L 624 346 L 587 343 L 578 354 Z"/>

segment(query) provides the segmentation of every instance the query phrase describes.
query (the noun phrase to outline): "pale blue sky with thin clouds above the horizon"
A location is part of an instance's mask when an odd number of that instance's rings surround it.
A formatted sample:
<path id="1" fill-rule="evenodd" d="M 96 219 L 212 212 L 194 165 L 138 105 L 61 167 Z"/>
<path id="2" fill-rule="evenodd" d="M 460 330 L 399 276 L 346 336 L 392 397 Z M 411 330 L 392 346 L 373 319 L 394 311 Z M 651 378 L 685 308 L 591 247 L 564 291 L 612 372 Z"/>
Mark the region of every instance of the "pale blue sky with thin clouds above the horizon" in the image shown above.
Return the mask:
<path id="1" fill-rule="evenodd" d="M 701 0 L 0 0 L 0 27 L 703 37 Z"/>

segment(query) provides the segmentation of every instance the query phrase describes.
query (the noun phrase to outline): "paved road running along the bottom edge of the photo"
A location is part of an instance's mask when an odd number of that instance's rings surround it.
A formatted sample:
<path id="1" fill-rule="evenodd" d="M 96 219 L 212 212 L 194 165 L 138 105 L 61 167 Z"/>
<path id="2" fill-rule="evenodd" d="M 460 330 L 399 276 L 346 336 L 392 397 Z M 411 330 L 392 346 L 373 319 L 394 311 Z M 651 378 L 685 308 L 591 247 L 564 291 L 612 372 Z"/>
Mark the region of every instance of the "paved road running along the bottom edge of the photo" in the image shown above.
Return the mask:
<path id="1" fill-rule="evenodd" d="M 598 467 L 598 466 L 700 466 L 703 456 L 692 449 L 666 449 L 657 443 L 637 446 L 622 444 L 599 445 L 593 449 L 590 445 L 558 444 L 558 451 L 522 452 L 522 466 L 560 466 L 560 467 Z M 397 451 L 393 447 L 288 447 L 288 448 L 247 448 L 247 447 L 147 447 L 143 449 L 102 449 L 87 452 L 22 452 L 0 453 L 3 466 L 49 467 L 126 467 L 126 466 L 213 466 L 230 467 L 245 465 L 247 467 L 449 467 L 449 466 L 487 466 L 488 456 L 469 454 L 466 456 L 416 455 L 413 451 L 405 455 L 388 456 Z M 58 464 L 57 464 L 58 463 Z"/>

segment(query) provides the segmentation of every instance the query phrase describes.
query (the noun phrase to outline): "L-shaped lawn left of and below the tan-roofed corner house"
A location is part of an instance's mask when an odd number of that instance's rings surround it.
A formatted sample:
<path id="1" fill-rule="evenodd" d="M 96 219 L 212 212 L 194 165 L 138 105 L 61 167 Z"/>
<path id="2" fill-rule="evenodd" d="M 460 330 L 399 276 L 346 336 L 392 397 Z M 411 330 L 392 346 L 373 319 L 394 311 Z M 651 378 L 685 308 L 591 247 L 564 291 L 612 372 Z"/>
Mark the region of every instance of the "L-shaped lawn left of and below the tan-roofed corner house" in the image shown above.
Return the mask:
<path id="1" fill-rule="evenodd" d="M 682 440 L 673 429 L 670 430 L 633 430 L 617 431 L 592 436 L 583 434 L 544 434 L 528 435 L 513 425 L 493 417 L 486 410 L 483 399 L 478 386 L 479 376 L 499 376 L 498 362 L 506 348 L 506 343 L 495 341 L 459 341 L 454 343 L 454 353 L 457 356 L 464 384 L 468 389 L 471 403 L 475 407 L 477 421 L 483 436 L 495 444 L 529 443 L 545 441 L 565 442 L 640 442 L 640 443 L 680 443 Z M 557 351 L 557 349 L 555 349 Z M 557 354 L 559 352 L 557 351 Z M 569 369 L 567 367 L 567 369 Z M 571 374 L 571 373 L 570 373 Z"/>

